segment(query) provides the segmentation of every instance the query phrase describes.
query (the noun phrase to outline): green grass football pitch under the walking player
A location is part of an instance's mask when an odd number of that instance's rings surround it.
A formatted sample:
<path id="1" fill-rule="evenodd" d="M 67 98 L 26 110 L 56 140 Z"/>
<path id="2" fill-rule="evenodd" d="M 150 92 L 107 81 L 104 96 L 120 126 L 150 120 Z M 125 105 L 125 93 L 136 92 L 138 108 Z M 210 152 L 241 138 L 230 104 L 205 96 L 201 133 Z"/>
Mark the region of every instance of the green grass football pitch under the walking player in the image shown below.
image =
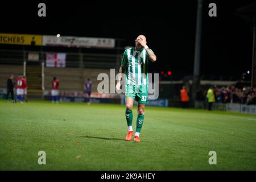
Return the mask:
<path id="1" fill-rule="evenodd" d="M 123 105 L 1 100 L 0 170 L 256 169 L 254 115 L 146 107 L 142 142 L 126 142 L 126 133 Z"/>

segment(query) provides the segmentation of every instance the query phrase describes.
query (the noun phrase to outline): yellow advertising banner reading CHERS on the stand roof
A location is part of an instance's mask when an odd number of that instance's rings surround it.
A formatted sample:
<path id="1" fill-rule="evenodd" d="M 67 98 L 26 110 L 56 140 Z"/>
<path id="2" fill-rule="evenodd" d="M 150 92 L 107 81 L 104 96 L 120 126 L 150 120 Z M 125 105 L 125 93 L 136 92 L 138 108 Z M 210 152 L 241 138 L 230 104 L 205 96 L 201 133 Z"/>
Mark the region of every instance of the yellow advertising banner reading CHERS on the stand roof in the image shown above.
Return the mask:
<path id="1" fill-rule="evenodd" d="M 28 34 L 2 34 L 0 33 L 0 44 L 19 44 L 28 46 L 42 46 L 42 35 Z"/>

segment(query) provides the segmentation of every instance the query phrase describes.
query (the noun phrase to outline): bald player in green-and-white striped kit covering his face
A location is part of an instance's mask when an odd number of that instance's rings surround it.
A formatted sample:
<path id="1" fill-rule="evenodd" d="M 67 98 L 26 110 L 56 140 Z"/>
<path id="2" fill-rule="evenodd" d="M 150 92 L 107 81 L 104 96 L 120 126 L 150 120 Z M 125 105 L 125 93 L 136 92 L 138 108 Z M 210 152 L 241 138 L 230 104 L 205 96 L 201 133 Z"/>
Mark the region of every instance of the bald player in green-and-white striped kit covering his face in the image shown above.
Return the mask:
<path id="1" fill-rule="evenodd" d="M 141 142 L 139 134 L 141 133 L 143 121 L 144 121 L 144 110 L 148 100 L 148 64 L 149 62 L 155 62 L 156 56 L 154 52 L 148 48 L 146 37 L 139 35 L 135 40 L 135 47 L 128 48 L 123 53 L 122 64 L 119 69 L 119 73 L 126 75 L 125 85 L 125 102 L 126 110 L 125 117 L 128 126 L 128 133 L 126 141 L 130 141 L 133 138 L 133 101 L 138 102 L 138 117 L 137 127 L 134 140 Z M 121 76 L 119 74 L 116 89 L 120 90 L 121 87 Z"/>

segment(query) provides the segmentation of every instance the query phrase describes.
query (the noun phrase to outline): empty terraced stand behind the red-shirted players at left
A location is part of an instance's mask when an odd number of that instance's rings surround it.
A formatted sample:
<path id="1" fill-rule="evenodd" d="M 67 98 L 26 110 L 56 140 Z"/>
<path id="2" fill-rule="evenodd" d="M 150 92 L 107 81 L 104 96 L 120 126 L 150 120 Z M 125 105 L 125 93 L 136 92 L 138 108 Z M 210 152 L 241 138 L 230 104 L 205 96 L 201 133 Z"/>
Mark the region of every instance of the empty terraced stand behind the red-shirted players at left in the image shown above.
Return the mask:
<path id="1" fill-rule="evenodd" d="M 90 78 L 93 81 L 92 92 L 97 91 L 97 85 L 101 80 L 97 80 L 100 73 L 106 73 L 110 76 L 110 68 L 119 67 L 121 55 L 110 52 L 88 53 L 88 52 L 72 52 L 77 49 L 69 48 L 62 50 L 67 53 L 65 68 L 49 68 L 44 67 L 44 82 L 42 82 L 42 64 L 46 63 L 46 53 L 60 51 L 54 47 L 45 48 L 40 51 L 38 48 L 20 47 L 0 49 L 0 89 L 1 92 L 6 92 L 6 80 L 10 74 L 14 75 L 14 81 L 18 75 L 23 75 L 23 64 L 26 61 L 26 77 L 28 83 L 28 95 L 42 95 L 42 85 L 45 91 L 51 90 L 51 81 L 53 77 L 57 77 L 60 81 L 61 93 L 83 92 L 83 82 Z M 26 49 L 26 50 L 25 50 Z M 29 51 L 28 51 L 29 50 Z M 29 61 L 29 53 L 38 53 L 38 61 Z M 116 71 L 117 72 L 117 71 Z M 73 93 L 72 93 L 73 92 Z M 44 93 L 46 94 L 46 93 Z"/>

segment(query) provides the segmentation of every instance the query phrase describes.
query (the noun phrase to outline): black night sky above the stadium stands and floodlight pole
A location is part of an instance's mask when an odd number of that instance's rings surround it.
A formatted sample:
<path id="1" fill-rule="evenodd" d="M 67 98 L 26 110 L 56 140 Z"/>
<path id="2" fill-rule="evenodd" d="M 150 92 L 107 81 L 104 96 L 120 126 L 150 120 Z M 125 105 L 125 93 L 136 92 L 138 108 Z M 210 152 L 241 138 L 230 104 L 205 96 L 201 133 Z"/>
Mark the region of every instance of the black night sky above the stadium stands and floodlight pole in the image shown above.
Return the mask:
<path id="1" fill-rule="evenodd" d="M 158 56 L 151 70 L 171 70 L 174 76 L 193 73 L 196 0 L 42 1 L 46 18 L 37 15 L 39 2 L 1 2 L 0 32 L 121 38 L 123 47 L 133 46 L 137 35 L 144 34 Z M 217 4 L 217 17 L 208 16 L 210 2 Z M 235 14 L 251 2 L 204 1 L 201 75 L 240 76 L 251 69 L 250 23 Z"/>

